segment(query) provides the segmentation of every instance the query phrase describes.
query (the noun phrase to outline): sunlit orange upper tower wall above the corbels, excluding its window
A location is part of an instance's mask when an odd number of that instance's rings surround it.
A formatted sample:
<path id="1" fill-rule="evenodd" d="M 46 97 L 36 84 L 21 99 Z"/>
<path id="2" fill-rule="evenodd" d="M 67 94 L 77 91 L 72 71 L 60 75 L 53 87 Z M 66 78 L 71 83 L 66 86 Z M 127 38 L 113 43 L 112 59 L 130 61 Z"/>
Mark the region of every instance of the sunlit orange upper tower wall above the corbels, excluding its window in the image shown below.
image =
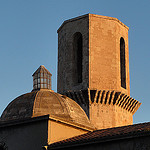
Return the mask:
<path id="1" fill-rule="evenodd" d="M 126 89 L 121 87 L 120 38 L 125 40 Z M 116 18 L 89 15 L 89 88 L 130 95 L 128 27 Z"/>

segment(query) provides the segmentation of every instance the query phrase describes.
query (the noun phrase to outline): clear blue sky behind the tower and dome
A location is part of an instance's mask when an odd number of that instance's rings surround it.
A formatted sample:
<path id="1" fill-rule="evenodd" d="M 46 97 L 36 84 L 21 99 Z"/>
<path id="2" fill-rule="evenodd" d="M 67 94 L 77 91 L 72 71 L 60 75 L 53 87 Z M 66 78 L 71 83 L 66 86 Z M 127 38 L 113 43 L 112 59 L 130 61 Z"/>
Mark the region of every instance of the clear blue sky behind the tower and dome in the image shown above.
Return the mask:
<path id="1" fill-rule="evenodd" d="M 32 74 L 44 65 L 57 91 L 57 29 L 66 19 L 92 13 L 129 27 L 131 96 L 141 107 L 134 123 L 150 121 L 149 0 L 0 0 L 0 114 L 32 90 Z"/>

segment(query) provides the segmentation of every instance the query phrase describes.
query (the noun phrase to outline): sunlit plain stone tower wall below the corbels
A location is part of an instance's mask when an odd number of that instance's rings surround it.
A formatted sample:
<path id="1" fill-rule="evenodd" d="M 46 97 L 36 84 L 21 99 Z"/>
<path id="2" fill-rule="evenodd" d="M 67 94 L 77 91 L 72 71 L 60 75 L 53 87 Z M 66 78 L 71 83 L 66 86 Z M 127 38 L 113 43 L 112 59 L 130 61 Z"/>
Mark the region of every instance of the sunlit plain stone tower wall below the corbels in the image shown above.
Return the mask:
<path id="1" fill-rule="evenodd" d="M 91 104 L 90 120 L 97 129 L 133 124 L 133 114 L 116 105 Z"/>

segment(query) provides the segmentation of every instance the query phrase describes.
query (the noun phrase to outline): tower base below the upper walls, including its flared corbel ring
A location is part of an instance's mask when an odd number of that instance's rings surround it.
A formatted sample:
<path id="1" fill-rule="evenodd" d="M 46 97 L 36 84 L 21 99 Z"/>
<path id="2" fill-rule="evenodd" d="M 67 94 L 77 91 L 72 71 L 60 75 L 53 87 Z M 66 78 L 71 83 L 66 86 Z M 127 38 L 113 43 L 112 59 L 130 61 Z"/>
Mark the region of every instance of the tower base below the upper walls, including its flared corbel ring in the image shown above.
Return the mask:
<path id="1" fill-rule="evenodd" d="M 87 89 L 68 91 L 64 95 L 76 101 L 97 128 L 133 123 L 133 114 L 141 103 L 118 91 Z"/>

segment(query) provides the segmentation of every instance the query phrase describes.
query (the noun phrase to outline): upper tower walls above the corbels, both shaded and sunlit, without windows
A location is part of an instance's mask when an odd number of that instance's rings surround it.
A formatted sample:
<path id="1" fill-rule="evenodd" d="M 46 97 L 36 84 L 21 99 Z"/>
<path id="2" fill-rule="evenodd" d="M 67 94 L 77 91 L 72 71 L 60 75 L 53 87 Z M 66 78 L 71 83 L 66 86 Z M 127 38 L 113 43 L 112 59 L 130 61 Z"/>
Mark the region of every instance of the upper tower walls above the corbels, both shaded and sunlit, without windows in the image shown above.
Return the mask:
<path id="1" fill-rule="evenodd" d="M 73 35 L 83 36 L 82 83 L 74 79 Z M 126 89 L 121 87 L 120 39 L 125 41 Z M 59 93 L 68 90 L 116 90 L 130 95 L 128 27 L 116 18 L 88 14 L 65 21 L 58 29 Z"/>

